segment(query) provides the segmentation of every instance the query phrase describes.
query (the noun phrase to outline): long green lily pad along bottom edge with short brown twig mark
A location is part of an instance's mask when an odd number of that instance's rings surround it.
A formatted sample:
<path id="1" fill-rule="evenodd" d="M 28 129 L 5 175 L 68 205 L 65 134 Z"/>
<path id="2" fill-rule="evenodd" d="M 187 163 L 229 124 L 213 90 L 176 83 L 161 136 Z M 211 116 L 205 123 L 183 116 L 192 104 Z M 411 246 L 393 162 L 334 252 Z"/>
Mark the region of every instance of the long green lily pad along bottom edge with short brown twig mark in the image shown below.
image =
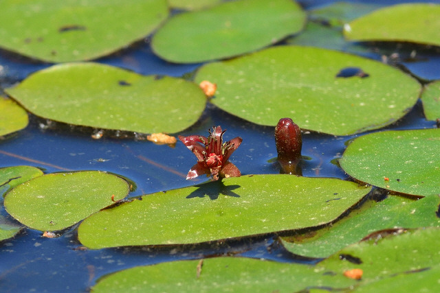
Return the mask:
<path id="1" fill-rule="evenodd" d="M 241 257 L 173 261 L 122 270 L 98 280 L 93 292 L 300 292 L 347 288 L 354 280 L 311 266 Z"/>

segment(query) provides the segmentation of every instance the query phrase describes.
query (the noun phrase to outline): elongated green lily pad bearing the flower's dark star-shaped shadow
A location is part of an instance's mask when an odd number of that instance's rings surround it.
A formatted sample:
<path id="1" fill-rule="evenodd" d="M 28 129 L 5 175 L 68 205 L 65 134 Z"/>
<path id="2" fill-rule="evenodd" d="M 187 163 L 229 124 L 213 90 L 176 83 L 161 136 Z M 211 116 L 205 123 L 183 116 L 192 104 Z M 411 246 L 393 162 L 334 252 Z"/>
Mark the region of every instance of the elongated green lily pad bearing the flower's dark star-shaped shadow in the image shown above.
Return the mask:
<path id="1" fill-rule="evenodd" d="M 89 248 L 190 244 L 318 226 L 370 191 L 333 178 L 250 175 L 144 196 L 87 218 Z"/>

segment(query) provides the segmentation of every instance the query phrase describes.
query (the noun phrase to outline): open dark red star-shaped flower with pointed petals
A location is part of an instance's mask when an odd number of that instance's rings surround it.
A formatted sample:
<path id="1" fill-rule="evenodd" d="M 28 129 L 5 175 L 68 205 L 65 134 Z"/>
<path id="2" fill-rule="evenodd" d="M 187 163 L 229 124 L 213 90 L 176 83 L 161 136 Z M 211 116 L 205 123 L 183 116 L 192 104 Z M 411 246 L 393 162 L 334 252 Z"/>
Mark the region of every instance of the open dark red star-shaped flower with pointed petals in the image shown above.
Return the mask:
<path id="1" fill-rule="evenodd" d="M 198 160 L 186 175 L 187 180 L 203 174 L 212 175 L 212 180 L 219 180 L 219 176 L 221 178 L 241 176 L 239 168 L 228 162 L 228 159 L 243 139 L 236 137 L 223 143 L 225 131 L 217 126 L 209 130 L 209 137 L 201 135 L 183 137 L 179 135 L 180 141 L 197 156 Z"/>

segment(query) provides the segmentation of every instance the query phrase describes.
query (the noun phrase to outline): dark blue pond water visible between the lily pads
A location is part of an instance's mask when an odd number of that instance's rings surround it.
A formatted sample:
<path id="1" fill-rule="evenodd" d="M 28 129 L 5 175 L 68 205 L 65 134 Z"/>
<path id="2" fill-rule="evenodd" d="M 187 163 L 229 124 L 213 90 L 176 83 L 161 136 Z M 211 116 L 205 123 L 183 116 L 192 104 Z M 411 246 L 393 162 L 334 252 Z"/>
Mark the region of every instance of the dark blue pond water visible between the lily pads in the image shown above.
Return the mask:
<path id="1" fill-rule="evenodd" d="M 333 1 L 300 1 L 307 9 Z M 384 1 L 396 3 L 397 1 Z M 405 1 L 399 1 L 405 2 Z M 371 53 L 369 58 L 380 60 L 382 54 L 399 53 L 399 65 L 422 80 L 440 78 L 440 55 L 432 49 L 411 45 L 365 44 Z M 411 51 L 417 49 L 419 60 L 406 61 Z M 362 52 L 364 55 L 364 52 Z M 174 65 L 155 57 L 148 40 L 124 49 L 98 62 L 131 69 L 142 74 L 182 76 L 191 73 L 199 65 Z M 22 80 L 28 74 L 48 67 L 0 51 L 2 67 L 0 82 L 6 87 Z M 186 172 L 195 163 L 195 157 L 186 147 L 177 143 L 175 148 L 155 145 L 142 136 L 130 134 L 128 138 L 91 138 L 90 128 L 71 128 L 62 124 L 30 116 L 30 125 L 8 139 L 0 141 L 0 167 L 32 165 L 46 173 L 65 170 L 103 170 L 131 180 L 135 191 L 129 196 L 151 194 L 203 183 L 206 178 L 185 180 Z M 242 174 L 277 174 L 279 167 L 273 163 L 276 157 L 274 128 L 257 126 L 215 106 L 208 106 L 199 121 L 179 134 L 203 134 L 212 126 L 227 129 L 225 139 L 240 136 L 243 143 L 232 155 L 232 161 Z M 433 128 L 433 121 L 426 121 L 421 103 L 410 113 L 386 129 Z M 381 130 L 383 130 L 382 128 Z M 112 133 L 115 134 L 115 133 Z M 335 137 L 314 132 L 303 133 L 303 176 L 347 178 L 335 163 L 349 137 Z M 4 211 L 2 211 L 4 213 Z M 117 224 L 117 223 L 115 223 Z M 212 255 L 242 255 L 273 259 L 284 262 L 314 263 L 291 255 L 274 240 L 274 235 L 248 237 L 212 245 L 162 247 L 162 248 L 112 248 L 83 250 L 76 239 L 76 226 L 67 229 L 61 237 L 41 237 L 40 231 L 26 228 L 13 239 L 0 243 L 0 291 L 1 292 L 84 292 L 99 277 L 110 272 L 133 266 L 195 259 Z"/>

